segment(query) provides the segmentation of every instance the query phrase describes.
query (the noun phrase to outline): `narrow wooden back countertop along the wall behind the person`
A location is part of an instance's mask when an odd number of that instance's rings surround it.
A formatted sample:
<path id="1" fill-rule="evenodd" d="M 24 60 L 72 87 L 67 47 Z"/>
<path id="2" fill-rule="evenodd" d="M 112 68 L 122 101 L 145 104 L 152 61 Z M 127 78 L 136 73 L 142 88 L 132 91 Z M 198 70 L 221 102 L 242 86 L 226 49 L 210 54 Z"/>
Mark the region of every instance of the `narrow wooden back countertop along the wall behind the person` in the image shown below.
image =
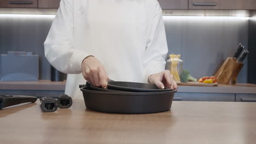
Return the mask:
<path id="1" fill-rule="evenodd" d="M 42 91 L 65 91 L 66 81 L 51 82 L 49 80 L 40 81 L 14 81 L 0 82 L 0 90 L 42 90 Z M 237 83 L 237 85 L 221 85 L 218 87 L 197 87 L 179 86 L 179 93 L 236 93 L 236 94 L 256 94 L 256 85 L 249 83 Z"/>

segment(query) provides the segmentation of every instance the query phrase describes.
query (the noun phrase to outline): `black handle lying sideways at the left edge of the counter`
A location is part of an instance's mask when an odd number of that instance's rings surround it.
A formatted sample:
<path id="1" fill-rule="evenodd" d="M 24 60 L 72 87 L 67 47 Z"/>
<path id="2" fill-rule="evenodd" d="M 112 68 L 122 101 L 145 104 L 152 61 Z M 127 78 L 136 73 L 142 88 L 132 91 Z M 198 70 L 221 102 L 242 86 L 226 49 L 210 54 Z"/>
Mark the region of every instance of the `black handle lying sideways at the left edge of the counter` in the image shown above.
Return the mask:
<path id="1" fill-rule="evenodd" d="M 22 103 L 34 103 L 36 101 L 37 97 L 25 95 L 0 95 L 0 110 L 4 107 L 19 105 Z"/>

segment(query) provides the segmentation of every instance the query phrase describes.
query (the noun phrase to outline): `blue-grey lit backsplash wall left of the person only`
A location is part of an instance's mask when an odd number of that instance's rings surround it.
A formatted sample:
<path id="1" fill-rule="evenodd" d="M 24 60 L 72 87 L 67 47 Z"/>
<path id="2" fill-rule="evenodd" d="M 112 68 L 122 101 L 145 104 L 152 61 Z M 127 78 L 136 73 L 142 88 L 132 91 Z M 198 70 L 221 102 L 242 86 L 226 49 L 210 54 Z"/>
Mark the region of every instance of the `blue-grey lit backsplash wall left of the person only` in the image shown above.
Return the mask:
<path id="1" fill-rule="evenodd" d="M 53 19 L 54 15 L 0 14 L 0 53 L 30 51 L 39 55 L 39 79 L 50 80 L 43 43 Z"/>

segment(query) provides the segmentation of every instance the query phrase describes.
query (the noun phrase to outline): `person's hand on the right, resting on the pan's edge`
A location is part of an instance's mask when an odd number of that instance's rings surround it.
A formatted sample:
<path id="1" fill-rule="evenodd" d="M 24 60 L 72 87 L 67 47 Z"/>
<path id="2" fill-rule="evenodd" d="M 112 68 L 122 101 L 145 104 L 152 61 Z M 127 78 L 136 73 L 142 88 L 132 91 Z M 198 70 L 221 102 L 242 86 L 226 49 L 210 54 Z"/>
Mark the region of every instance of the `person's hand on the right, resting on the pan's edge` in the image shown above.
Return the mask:
<path id="1" fill-rule="evenodd" d="M 149 83 L 154 83 L 160 89 L 171 88 L 178 89 L 177 83 L 172 79 L 170 70 L 162 71 L 161 73 L 153 74 L 148 77 Z"/>

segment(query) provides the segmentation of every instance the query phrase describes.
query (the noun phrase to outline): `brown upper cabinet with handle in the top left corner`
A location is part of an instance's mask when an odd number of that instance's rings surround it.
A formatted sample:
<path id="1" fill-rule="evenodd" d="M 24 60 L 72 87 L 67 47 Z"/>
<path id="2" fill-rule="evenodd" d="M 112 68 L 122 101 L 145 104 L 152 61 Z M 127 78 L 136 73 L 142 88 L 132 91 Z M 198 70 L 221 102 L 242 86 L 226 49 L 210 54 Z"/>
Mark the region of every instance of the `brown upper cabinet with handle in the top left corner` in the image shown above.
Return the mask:
<path id="1" fill-rule="evenodd" d="M 0 8 L 37 8 L 38 0 L 0 0 Z"/>

